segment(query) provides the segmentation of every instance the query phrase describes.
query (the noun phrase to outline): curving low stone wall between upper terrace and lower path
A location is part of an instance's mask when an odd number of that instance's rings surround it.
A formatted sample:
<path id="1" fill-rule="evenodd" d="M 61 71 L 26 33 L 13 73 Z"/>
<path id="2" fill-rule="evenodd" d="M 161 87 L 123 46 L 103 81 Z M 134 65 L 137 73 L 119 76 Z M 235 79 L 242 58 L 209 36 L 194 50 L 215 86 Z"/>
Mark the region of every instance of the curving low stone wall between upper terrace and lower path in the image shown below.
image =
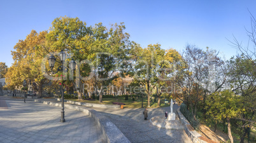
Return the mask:
<path id="1" fill-rule="evenodd" d="M 49 104 L 52 106 L 60 106 L 61 103 L 56 103 L 54 101 L 41 101 L 41 100 L 34 100 L 35 102 Z M 115 124 L 113 124 L 106 116 L 102 115 L 101 113 L 95 111 L 94 109 L 87 109 L 83 106 L 74 106 L 71 104 L 64 104 L 65 108 L 75 109 L 77 111 L 82 111 L 86 115 L 91 116 L 97 123 L 97 126 L 101 128 L 101 132 L 103 134 L 104 142 L 130 142 L 127 137 L 117 128 Z"/>

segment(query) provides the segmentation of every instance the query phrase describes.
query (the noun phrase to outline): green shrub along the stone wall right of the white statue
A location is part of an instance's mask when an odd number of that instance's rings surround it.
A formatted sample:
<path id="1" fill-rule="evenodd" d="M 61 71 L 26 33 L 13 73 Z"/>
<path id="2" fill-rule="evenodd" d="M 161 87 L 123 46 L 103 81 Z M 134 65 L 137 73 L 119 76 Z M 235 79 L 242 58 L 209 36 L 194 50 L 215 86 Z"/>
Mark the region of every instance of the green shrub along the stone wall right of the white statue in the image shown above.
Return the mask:
<path id="1" fill-rule="evenodd" d="M 190 125 L 195 129 L 199 129 L 200 122 L 194 120 L 192 113 L 187 109 L 187 105 L 182 103 L 180 106 L 181 113 L 187 118 L 187 120 L 190 122 Z"/>

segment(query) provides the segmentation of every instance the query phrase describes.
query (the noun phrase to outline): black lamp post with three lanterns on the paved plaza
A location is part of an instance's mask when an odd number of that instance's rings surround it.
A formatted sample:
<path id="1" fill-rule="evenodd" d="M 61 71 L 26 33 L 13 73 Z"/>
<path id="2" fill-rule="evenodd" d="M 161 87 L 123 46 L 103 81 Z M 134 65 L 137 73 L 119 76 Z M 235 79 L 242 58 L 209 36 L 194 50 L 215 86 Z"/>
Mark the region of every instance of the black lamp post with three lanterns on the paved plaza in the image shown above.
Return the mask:
<path id="1" fill-rule="evenodd" d="M 57 73 L 58 71 L 63 71 L 64 72 L 64 61 L 65 61 L 65 58 L 66 58 L 66 53 L 61 50 L 60 53 L 59 53 L 59 57 L 60 57 L 60 63 L 61 63 L 61 66 L 59 66 L 58 70 L 55 72 Z M 49 66 L 51 68 L 51 71 L 54 67 L 54 64 L 55 64 L 55 61 L 56 61 L 56 58 L 51 55 L 49 58 L 48 58 L 48 63 L 49 63 Z M 74 59 L 71 59 L 71 61 L 69 62 L 69 68 L 70 70 L 75 70 L 76 69 L 76 62 L 74 61 Z M 67 68 L 66 68 L 67 69 Z M 53 74 L 55 74 L 53 71 L 52 71 Z M 65 118 L 64 118 L 64 84 L 63 82 L 61 83 L 61 87 L 62 87 L 62 92 L 61 92 L 61 101 L 62 101 L 62 108 L 61 108 L 61 118 L 60 118 L 60 122 L 65 122 Z"/>

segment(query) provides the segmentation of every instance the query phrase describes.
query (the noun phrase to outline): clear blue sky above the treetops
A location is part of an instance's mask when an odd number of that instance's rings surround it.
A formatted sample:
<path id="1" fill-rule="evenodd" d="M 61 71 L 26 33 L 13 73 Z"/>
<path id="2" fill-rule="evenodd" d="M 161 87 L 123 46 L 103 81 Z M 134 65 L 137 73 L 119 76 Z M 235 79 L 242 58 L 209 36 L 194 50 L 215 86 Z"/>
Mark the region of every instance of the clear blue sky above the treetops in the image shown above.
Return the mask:
<path id="1" fill-rule="evenodd" d="M 125 32 L 142 47 L 185 49 L 187 44 L 210 47 L 226 59 L 238 53 L 233 35 L 246 46 L 250 13 L 256 1 L 1 1 L 0 62 L 11 66 L 11 51 L 31 30 L 48 30 L 54 18 L 78 17 L 87 25 L 124 22 Z M 229 39 L 229 40 L 227 40 Z M 252 47 L 251 47 L 252 48 Z"/>

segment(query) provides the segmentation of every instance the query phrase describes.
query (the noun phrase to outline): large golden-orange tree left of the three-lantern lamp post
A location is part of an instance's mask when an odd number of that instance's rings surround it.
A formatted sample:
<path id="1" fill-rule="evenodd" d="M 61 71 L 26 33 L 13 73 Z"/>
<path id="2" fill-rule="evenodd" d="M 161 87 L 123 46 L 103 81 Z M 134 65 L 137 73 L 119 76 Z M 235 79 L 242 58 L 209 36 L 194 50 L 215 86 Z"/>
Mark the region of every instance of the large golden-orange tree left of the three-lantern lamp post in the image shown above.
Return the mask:
<path id="1" fill-rule="evenodd" d="M 42 96 L 42 86 L 49 82 L 41 71 L 41 62 L 46 54 L 43 50 L 46 34 L 46 31 L 38 34 L 32 30 L 25 40 L 19 40 L 14 46 L 15 51 L 11 51 L 14 63 L 6 74 L 8 89 L 22 86 L 24 79 L 30 79 L 36 85 L 33 89 L 38 92 L 39 97 Z"/>

